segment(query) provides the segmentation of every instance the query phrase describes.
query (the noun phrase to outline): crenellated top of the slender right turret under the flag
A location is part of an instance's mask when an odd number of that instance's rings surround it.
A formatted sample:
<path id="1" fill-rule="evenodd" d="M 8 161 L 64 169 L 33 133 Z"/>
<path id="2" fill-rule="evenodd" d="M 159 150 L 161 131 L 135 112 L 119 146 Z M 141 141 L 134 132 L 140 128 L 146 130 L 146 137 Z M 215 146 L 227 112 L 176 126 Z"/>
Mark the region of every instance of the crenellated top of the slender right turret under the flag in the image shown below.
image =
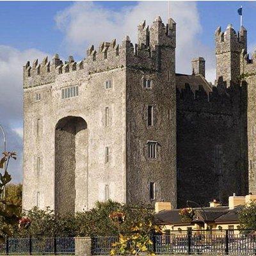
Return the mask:
<path id="1" fill-rule="evenodd" d="M 242 49 L 247 49 L 247 31 L 241 26 L 240 31 L 236 33 L 232 24 L 227 26 L 225 32 L 218 27 L 215 31 L 216 54 L 223 52 L 241 52 Z"/>

